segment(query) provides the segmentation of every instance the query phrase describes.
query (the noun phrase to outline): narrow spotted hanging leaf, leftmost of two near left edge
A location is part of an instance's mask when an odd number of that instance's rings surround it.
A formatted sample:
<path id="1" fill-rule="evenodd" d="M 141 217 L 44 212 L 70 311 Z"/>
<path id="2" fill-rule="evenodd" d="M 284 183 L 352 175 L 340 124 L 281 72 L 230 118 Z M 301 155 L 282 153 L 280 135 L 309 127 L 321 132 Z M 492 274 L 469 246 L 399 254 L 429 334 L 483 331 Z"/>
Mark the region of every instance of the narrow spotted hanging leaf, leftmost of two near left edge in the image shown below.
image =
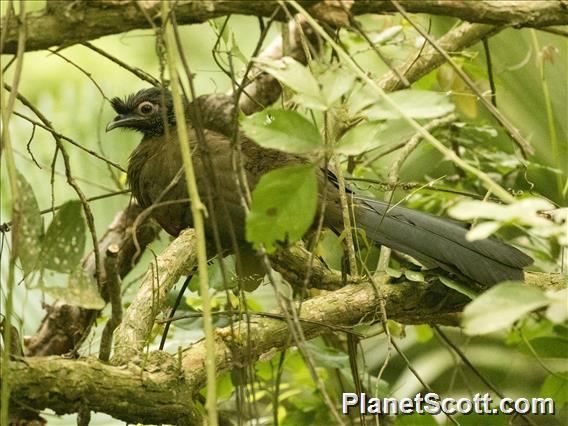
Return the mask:
<path id="1" fill-rule="evenodd" d="M 21 203 L 20 220 L 13 232 L 18 246 L 18 257 L 22 262 L 24 273 L 28 275 L 40 266 L 43 221 L 34 191 L 21 173 L 18 173 L 18 188 Z"/>

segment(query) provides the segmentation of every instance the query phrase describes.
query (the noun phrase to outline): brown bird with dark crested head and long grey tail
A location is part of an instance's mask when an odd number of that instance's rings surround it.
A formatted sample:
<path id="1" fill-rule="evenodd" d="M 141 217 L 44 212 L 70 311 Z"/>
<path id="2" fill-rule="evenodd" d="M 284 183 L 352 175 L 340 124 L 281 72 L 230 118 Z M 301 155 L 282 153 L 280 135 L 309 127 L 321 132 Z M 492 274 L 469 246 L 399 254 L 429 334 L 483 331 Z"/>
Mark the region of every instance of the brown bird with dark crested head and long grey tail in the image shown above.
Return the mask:
<path id="1" fill-rule="evenodd" d="M 133 196 L 143 208 L 151 209 L 152 216 L 167 233 L 177 236 L 183 229 L 191 227 L 193 220 L 185 179 L 180 179 L 182 158 L 171 93 L 165 88 L 146 88 L 126 98 L 115 97 L 111 105 L 117 115 L 108 123 L 107 132 L 122 128 L 143 135 L 127 167 L 127 182 Z M 190 108 L 189 103 L 185 105 L 186 109 Z M 202 151 L 197 149 L 196 127 L 191 119 L 186 121 L 187 143 L 193 152 L 197 188 L 200 197 L 204 197 L 208 185 L 209 188 L 212 185 L 211 176 L 202 161 Z M 227 251 L 237 248 L 250 256 L 254 250 L 246 240 L 246 209 L 234 170 L 232 140 L 211 128 L 203 129 L 203 136 L 215 171 L 217 191 L 212 206 L 217 217 L 219 239 Z M 305 156 L 261 147 L 242 132 L 239 138 L 245 179 L 251 190 L 263 175 L 272 170 L 310 162 Z M 325 197 L 322 197 L 326 180 L 329 185 L 326 186 Z M 324 225 L 339 233 L 343 230 L 343 216 L 337 182 L 333 174 L 323 167 L 319 171 L 318 182 L 320 203 L 324 199 L 326 203 L 321 210 Z M 507 280 L 522 281 L 523 268 L 533 262 L 530 256 L 496 238 L 467 240 L 467 224 L 354 193 L 349 198 L 352 219 L 357 228 L 366 232 L 368 239 L 410 255 L 428 268 L 438 267 L 488 287 Z M 210 217 L 206 220 L 205 229 L 208 239 L 211 238 L 213 224 Z"/>

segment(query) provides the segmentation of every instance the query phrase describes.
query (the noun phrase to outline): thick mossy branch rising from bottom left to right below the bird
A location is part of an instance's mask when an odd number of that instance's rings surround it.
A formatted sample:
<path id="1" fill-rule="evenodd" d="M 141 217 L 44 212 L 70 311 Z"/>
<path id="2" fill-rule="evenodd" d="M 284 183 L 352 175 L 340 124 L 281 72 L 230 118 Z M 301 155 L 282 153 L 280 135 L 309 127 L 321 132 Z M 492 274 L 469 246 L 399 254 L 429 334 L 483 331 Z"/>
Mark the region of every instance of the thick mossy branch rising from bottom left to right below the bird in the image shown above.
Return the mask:
<path id="1" fill-rule="evenodd" d="M 559 274 L 530 273 L 526 280 L 544 289 L 558 290 L 566 285 Z M 384 298 L 389 319 L 408 324 L 456 324 L 467 302 L 465 296 L 438 283 L 385 284 L 378 294 Z M 377 307 L 377 292 L 372 286 L 352 282 L 304 301 L 301 323 L 306 338 L 314 338 L 330 328 L 375 322 Z M 217 371 L 242 367 L 287 347 L 288 333 L 285 321 L 260 317 L 249 324 L 242 321 L 217 330 Z M 180 362 L 163 352 L 150 353 L 142 363 L 144 370 L 132 363 L 113 367 L 95 359 L 47 357 L 14 362 L 18 380 L 12 388 L 12 401 L 14 406 L 52 408 L 57 413 L 76 412 L 86 406 L 128 422 L 178 423 L 177 419 L 182 419 L 193 424 L 197 420 L 191 401 L 205 383 L 207 356 L 201 341 L 185 350 Z"/>

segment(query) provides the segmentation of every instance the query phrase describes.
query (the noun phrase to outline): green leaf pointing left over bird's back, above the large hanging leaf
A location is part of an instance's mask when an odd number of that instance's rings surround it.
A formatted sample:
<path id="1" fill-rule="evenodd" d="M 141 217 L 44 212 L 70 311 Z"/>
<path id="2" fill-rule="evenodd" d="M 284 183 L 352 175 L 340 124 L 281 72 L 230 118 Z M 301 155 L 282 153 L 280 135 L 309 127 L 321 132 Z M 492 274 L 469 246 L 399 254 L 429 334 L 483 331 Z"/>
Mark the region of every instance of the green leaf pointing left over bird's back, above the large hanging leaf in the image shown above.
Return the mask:
<path id="1" fill-rule="evenodd" d="M 322 148 L 318 130 L 301 114 L 268 108 L 241 119 L 245 134 L 260 146 L 292 154 L 304 154 Z"/>

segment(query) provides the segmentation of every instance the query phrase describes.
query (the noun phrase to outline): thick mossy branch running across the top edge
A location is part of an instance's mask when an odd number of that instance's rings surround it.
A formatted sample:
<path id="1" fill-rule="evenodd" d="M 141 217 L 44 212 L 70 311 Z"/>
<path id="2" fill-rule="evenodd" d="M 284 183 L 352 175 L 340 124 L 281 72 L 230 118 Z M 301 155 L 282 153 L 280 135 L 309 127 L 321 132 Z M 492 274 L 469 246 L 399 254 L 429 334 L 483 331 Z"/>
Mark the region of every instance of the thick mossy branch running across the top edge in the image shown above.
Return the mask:
<path id="1" fill-rule="evenodd" d="M 57 2 L 51 2 L 57 3 Z M 313 4 L 301 1 L 303 6 Z M 399 2 L 410 13 L 454 16 L 469 22 L 519 27 L 545 27 L 568 24 L 568 9 L 561 1 L 438 1 L 407 0 Z M 148 6 L 149 5 L 149 6 Z M 231 14 L 268 17 L 278 7 L 269 1 L 180 1 L 176 8 L 178 24 L 205 22 Z M 143 12 L 141 8 L 146 10 Z M 336 14 L 332 3 L 317 4 L 313 12 L 321 20 L 331 20 Z M 146 14 L 159 23 L 159 2 L 60 2 L 60 7 L 29 13 L 26 50 L 47 49 L 52 46 L 69 46 L 109 34 L 118 34 L 139 28 L 149 28 Z M 351 9 L 355 15 L 365 13 L 391 13 L 396 9 L 390 1 L 356 1 Z M 286 19 L 279 13 L 277 19 Z M 5 17 L 2 27 L 5 27 Z M 346 21 L 347 22 L 347 21 Z M 17 26 L 9 23 L 2 53 L 14 53 L 17 44 Z"/>

